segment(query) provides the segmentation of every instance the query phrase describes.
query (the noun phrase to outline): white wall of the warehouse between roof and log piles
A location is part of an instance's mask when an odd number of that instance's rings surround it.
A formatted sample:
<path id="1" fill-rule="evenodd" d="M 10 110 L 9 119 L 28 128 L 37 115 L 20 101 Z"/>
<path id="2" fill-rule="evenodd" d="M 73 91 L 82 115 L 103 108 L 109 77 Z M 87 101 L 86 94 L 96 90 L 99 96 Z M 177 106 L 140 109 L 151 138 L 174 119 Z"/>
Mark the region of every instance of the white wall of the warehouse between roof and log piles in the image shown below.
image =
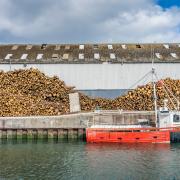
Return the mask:
<path id="1" fill-rule="evenodd" d="M 67 85 L 80 90 L 129 89 L 151 70 L 151 63 L 140 64 L 28 64 L 26 68 L 38 68 L 49 76 L 59 76 Z M 24 68 L 12 64 L 11 70 Z M 155 68 L 159 78 L 180 79 L 180 63 L 158 63 Z M 10 70 L 10 65 L 1 64 L 0 69 Z M 142 83 L 151 81 L 151 77 Z M 139 84 L 139 85 L 142 85 Z M 135 87 L 134 87 L 135 88 Z"/>

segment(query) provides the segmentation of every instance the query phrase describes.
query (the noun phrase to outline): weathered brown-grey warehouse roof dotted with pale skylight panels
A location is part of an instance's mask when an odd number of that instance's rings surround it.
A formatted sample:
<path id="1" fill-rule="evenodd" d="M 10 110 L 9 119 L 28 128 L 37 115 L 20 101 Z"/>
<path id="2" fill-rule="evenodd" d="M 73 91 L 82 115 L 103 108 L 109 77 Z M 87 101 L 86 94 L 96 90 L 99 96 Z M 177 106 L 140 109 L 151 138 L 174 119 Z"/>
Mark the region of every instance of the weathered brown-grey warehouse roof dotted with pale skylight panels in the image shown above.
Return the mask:
<path id="1" fill-rule="evenodd" d="M 5 58 L 8 54 L 11 60 Z M 21 59 L 23 54 L 26 59 Z M 37 59 L 38 54 L 42 58 Z M 180 62 L 180 43 L 0 45 L 0 63 L 151 62 L 153 54 L 155 62 Z"/>

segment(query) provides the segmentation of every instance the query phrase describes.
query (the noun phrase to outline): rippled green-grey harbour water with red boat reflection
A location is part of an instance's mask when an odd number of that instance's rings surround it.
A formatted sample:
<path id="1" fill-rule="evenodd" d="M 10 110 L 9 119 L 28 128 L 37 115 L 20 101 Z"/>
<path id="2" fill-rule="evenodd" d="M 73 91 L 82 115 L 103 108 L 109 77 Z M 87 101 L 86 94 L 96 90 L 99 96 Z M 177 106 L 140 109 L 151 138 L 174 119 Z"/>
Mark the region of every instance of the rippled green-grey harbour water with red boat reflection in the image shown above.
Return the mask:
<path id="1" fill-rule="evenodd" d="M 1 142 L 0 179 L 180 179 L 180 144 Z"/>

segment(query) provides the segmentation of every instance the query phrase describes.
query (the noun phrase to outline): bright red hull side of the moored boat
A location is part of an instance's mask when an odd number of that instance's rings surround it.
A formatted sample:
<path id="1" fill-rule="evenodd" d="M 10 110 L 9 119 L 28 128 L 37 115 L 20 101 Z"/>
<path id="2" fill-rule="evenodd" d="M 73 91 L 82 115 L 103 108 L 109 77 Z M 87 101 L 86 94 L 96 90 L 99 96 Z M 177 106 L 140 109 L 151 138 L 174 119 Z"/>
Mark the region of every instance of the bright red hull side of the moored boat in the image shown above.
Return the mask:
<path id="1" fill-rule="evenodd" d="M 86 129 L 87 142 L 170 143 L 171 130 Z"/>

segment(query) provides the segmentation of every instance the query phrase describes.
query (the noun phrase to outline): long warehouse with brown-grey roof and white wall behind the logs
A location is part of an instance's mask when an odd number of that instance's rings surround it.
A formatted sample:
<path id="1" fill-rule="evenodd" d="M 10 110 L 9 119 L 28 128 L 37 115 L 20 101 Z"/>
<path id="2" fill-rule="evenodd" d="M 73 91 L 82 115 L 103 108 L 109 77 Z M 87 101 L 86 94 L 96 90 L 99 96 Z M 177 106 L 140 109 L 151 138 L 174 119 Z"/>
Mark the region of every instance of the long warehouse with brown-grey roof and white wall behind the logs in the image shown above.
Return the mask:
<path id="1" fill-rule="evenodd" d="M 178 43 L 0 45 L 1 70 L 38 68 L 88 95 L 109 98 L 135 88 L 152 60 L 159 78 L 180 79 Z"/>

